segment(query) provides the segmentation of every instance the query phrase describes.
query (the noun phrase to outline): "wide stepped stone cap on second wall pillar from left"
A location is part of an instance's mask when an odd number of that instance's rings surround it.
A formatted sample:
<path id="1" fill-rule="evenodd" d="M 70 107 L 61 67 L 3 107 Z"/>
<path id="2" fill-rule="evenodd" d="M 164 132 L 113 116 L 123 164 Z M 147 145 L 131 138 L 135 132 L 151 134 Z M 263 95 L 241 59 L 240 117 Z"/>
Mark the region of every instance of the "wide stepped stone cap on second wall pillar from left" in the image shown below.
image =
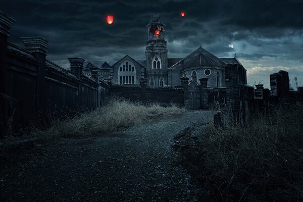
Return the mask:
<path id="1" fill-rule="evenodd" d="M 47 53 L 48 41 L 41 36 L 21 37 L 24 48 L 32 53 Z"/>

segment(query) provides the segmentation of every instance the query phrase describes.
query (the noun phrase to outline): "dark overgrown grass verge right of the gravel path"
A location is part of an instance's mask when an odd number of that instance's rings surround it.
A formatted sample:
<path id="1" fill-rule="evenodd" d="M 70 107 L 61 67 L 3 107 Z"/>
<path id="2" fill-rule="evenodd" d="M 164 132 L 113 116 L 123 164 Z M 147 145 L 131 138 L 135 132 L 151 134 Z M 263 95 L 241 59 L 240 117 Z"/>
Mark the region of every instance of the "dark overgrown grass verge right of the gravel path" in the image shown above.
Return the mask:
<path id="1" fill-rule="evenodd" d="M 224 199 L 302 201 L 303 110 L 252 117 L 245 127 L 210 125 L 199 169 Z"/>

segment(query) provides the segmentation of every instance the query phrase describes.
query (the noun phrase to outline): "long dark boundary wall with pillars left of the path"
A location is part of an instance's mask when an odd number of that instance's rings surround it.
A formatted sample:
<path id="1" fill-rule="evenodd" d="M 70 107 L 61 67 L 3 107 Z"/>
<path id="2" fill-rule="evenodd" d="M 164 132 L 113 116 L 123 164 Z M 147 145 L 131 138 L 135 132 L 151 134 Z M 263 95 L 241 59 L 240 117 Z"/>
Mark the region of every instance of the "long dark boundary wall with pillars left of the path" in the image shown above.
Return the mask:
<path id="1" fill-rule="evenodd" d="M 48 42 L 42 37 L 23 37 L 24 48 L 9 43 L 13 23 L 0 12 L 0 134 L 105 102 L 110 86 L 99 79 L 99 68 L 87 77 L 81 58 L 69 58 L 71 72 L 48 61 Z"/>

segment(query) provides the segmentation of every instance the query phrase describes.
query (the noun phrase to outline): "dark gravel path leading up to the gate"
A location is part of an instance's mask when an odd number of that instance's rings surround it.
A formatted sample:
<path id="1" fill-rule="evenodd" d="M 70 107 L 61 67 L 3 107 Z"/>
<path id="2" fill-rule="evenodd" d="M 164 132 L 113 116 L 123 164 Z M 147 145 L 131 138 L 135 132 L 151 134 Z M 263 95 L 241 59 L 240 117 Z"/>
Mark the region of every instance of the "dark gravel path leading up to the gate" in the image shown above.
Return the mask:
<path id="1" fill-rule="evenodd" d="M 0 201 L 200 201 L 174 151 L 174 137 L 209 121 L 209 111 L 128 128 L 102 137 L 65 139 L 0 161 Z"/>

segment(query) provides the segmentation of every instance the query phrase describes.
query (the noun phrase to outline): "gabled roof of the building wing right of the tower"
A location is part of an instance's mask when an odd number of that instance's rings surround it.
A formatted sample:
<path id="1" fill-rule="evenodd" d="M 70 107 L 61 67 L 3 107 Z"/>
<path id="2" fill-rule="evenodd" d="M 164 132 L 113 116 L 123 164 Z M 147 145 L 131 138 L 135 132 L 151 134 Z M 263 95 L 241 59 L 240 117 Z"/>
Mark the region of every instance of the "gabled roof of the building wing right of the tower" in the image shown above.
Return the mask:
<path id="1" fill-rule="evenodd" d="M 226 65 L 226 63 L 224 61 L 222 61 L 220 58 L 217 58 L 216 56 L 214 56 L 213 54 L 209 53 L 208 51 L 206 51 L 205 49 L 203 49 L 200 46 L 194 52 L 192 52 L 191 54 L 189 54 L 188 56 L 186 56 L 182 60 L 178 61 L 176 64 L 174 64 L 170 68 L 176 67 L 181 62 L 184 62 L 184 67 L 187 67 L 188 64 L 192 61 L 191 58 L 195 57 L 197 55 L 198 55 L 198 57 L 195 58 L 196 60 L 199 61 L 200 60 L 200 55 L 201 55 L 201 57 L 204 58 L 203 60 L 208 61 L 208 63 L 212 64 L 212 66 L 225 67 L 225 65 Z"/>

